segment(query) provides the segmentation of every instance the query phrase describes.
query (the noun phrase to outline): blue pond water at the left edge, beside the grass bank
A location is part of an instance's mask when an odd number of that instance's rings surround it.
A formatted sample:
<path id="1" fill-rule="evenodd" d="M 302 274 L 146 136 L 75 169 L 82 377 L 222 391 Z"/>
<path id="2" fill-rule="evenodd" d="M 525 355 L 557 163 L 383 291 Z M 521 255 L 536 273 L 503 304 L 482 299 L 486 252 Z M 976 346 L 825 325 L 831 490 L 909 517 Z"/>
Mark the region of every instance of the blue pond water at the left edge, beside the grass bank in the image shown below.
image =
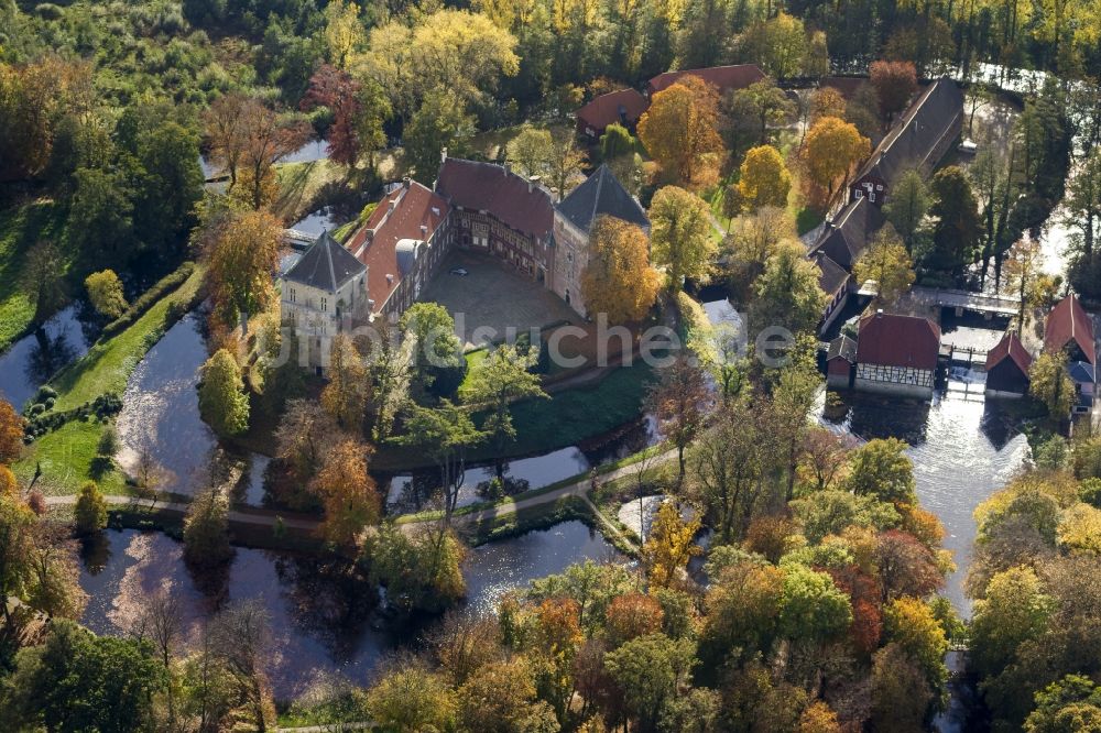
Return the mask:
<path id="1" fill-rule="evenodd" d="M 0 396 L 21 408 L 39 386 L 88 352 L 91 325 L 70 305 L 0 355 Z"/>

